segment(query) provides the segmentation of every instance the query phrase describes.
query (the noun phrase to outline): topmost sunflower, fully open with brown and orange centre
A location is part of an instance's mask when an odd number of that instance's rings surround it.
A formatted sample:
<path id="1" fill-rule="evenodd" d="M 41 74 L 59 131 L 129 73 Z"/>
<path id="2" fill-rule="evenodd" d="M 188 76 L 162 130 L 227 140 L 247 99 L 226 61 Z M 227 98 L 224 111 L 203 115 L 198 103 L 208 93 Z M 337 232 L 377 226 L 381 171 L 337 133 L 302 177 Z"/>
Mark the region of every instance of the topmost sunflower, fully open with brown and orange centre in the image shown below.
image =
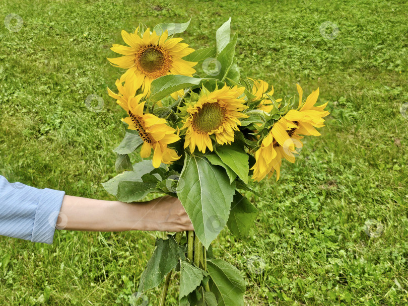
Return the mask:
<path id="1" fill-rule="evenodd" d="M 192 77 L 196 62 L 190 62 L 182 57 L 194 49 L 181 43 L 182 38 L 168 39 L 167 30 L 161 35 L 150 29 L 141 35 L 139 28 L 134 33 L 122 31 L 122 38 L 130 47 L 113 44 L 111 50 L 122 54 L 117 58 L 108 58 L 112 65 L 127 69 L 120 81 L 134 82 L 137 89 L 142 88 L 145 95 L 150 95 L 150 85 L 153 80 L 167 74 L 181 74 Z"/>

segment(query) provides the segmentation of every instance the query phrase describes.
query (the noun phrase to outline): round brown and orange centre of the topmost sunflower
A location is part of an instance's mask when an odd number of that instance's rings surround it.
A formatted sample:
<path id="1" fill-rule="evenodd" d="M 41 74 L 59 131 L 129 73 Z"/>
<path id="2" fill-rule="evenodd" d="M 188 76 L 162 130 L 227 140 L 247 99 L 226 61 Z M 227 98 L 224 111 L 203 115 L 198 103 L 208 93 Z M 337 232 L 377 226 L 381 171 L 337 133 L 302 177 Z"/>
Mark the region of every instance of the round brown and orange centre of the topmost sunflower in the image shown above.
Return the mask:
<path id="1" fill-rule="evenodd" d="M 170 69 L 171 62 L 171 56 L 165 50 L 153 45 L 140 48 L 134 57 L 134 65 L 153 79 L 165 75 Z"/>

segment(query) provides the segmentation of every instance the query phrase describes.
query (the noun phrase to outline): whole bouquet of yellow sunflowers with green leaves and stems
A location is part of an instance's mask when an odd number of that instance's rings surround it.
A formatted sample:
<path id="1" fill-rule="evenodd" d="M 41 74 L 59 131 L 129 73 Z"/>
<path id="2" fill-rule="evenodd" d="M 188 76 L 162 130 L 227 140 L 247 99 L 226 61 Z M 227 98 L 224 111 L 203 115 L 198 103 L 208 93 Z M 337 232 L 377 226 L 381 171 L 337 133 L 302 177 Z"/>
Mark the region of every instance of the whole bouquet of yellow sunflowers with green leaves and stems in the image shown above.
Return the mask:
<path id="1" fill-rule="evenodd" d="M 303 100 L 297 85 L 299 102 L 283 101 L 266 82 L 241 78 L 230 22 L 217 30 L 216 46 L 199 50 L 176 37 L 189 22 L 122 31 L 128 46 L 114 44 L 122 56 L 108 59 L 125 69 L 117 93 L 108 91 L 128 116 L 114 149 L 121 173 L 103 183 L 105 189 L 124 202 L 149 193 L 178 197 L 195 230 L 156 241 L 138 291 L 165 278 L 160 306 L 173 270 L 180 271 L 180 305 L 244 305 L 241 273 L 214 258 L 211 243 L 225 225 L 246 239 L 258 210 L 240 191 L 260 196 L 247 186 L 248 177 L 260 181 L 276 171 L 278 180 L 282 160 L 294 163 L 303 136 L 320 135 L 315 128 L 329 114 L 327 103 L 315 106 L 318 89 Z M 195 70 L 200 65 L 203 77 Z M 131 165 L 128 155 L 139 147 L 148 160 Z"/>

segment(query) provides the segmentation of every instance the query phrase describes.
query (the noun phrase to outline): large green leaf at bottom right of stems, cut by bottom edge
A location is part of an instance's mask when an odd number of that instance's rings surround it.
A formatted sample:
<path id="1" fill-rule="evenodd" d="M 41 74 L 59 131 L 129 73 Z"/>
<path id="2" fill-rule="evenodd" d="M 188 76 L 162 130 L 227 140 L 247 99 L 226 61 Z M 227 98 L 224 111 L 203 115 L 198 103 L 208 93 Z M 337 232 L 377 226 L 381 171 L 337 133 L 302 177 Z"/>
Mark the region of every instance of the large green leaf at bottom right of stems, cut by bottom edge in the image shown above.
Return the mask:
<path id="1" fill-rule="evenodd" d="M 244 306 L 245 281 L 237 268 L 221 259 L 209 259 L 207 270 L 212 279 L 211 291 L 218 306 Z"/>

